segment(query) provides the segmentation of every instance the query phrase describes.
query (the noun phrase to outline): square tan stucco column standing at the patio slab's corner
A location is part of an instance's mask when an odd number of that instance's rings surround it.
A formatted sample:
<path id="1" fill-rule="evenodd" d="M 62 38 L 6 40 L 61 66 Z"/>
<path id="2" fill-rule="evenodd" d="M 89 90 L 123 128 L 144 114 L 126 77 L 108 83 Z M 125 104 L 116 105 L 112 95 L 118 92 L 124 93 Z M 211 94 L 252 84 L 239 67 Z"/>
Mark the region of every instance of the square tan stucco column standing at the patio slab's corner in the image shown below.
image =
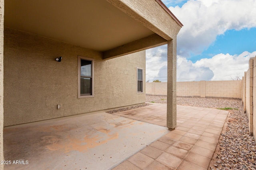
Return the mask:
<path id="1" fill-rule="evenodd" d="M 174 130 L 177 125 L 176 106 L 176 39 L 168 41 L 167 48 L 167 127 Z"/>

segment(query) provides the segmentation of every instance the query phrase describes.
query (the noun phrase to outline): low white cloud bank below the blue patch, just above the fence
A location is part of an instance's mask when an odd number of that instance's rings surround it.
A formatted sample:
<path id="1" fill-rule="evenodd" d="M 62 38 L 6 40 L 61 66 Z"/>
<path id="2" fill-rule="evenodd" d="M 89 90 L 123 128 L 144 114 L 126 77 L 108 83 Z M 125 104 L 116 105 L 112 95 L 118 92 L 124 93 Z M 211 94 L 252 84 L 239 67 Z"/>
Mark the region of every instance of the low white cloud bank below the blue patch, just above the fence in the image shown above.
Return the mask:
<path id="1" fill-rule="evenodd" d="M 155 48 L 153 51 L 158 50 Z M 158 57 L 153 57 L 154 55 L 149 52 L 147 55 L 150 56 L 150 63 L 146 63 L 146 80 L 152 82 L 158 79 L 167 82 L 167 54 L 165 53 L 166 57 L 160 57 L 159 53 Z M 237 76 L 242 79 L 244 72 L 248 70 L 249 59 L 255 56 L 256 51 L 253 53 L 244 51 L 240 55 L 218 54 L 210 59 L 200 59 L 196 63 L 177 56 L 177 81 L 235 80 Z"/>

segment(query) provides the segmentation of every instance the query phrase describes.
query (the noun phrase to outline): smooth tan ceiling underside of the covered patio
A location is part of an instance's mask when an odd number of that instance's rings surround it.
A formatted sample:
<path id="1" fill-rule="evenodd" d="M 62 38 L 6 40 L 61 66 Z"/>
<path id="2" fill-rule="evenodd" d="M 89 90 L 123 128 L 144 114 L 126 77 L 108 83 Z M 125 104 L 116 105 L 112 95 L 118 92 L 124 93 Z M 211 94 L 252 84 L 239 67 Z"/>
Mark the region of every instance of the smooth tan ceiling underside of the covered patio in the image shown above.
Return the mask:
<path id="1" fill-rule="evenodd" d="M 171 39 L 157 34 L 158 28 L 152 31 L 145 26 L 148 23 L 134 19 L 143 18 L 136 12 L 138 16 L 132 18 L 133 13 L 116 8 L 116 4 L 124 4 L 120 1 L 124 0 L 5 0 L 4 26 L 101 51 L 103 59 L 156 47 Z M 158 3 L 155 9 L 161 8 Z"/>

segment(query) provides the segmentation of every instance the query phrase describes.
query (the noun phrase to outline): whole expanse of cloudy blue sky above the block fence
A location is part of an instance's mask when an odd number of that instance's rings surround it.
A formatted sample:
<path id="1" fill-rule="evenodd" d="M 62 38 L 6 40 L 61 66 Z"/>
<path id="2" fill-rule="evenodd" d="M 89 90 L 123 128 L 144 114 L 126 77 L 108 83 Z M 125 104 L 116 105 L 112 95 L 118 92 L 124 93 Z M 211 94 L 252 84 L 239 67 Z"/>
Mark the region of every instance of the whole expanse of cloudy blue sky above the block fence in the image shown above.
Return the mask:
<path id="1" fill-rule="evenodd" d="M 162 0 L 183 23 L 177 81 L 236 80 L 256 56 L 256 0 Z M 167 81 L 167 46 L 146 50 L 146 80 Z"/>

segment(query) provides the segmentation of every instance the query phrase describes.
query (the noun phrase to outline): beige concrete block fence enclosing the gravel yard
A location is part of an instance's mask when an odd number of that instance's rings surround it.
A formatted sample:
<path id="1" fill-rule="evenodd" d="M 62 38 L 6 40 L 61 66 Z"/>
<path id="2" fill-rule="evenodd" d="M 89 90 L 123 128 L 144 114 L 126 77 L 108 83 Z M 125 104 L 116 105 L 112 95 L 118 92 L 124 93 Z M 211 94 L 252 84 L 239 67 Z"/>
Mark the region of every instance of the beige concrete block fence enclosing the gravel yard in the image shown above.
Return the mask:
<path id="1" fill-rule="evenodd" d="M 167 95 L 167 82 L 146 83 L 146 94 Z M 249 133 L 256 139 L 256 56 L 250 58 L 242 80 L 177 82 L 176 96 L 242 100 Z"/>

